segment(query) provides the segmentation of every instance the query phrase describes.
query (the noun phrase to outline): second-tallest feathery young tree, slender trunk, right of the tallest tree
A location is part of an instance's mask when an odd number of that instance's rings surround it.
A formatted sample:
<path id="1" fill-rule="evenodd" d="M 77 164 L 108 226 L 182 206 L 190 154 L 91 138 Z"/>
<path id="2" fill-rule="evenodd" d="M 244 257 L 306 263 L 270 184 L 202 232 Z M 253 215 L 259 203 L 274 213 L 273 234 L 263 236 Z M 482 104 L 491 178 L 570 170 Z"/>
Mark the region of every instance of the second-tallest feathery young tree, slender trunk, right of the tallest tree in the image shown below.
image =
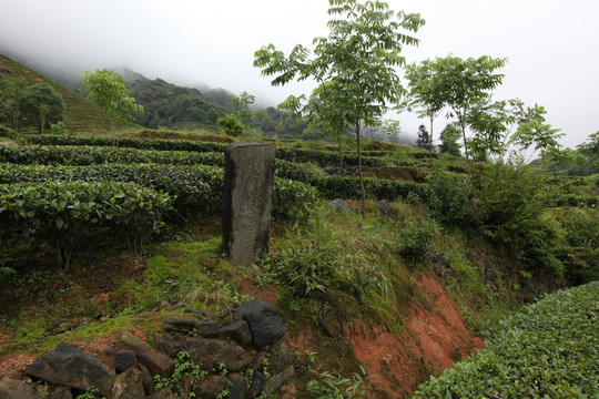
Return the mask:
<path id="1" fill-rule="evenodd" d="M 490 98 L 489 91 L 501 84 L 504 75 L 494 73 L 504 66 L 507 59 L 493 59 L 483 55 L 478 59 L 463 60 L 459 57 L 437 58 L 430 62 L 433 73 L 438 79 L 436 86 L 443 102 L 451 110 L 450 117 L 457 117 L 461 129 L 464 153 L 468 158 L 466 126 L 473 109 Z"/>

